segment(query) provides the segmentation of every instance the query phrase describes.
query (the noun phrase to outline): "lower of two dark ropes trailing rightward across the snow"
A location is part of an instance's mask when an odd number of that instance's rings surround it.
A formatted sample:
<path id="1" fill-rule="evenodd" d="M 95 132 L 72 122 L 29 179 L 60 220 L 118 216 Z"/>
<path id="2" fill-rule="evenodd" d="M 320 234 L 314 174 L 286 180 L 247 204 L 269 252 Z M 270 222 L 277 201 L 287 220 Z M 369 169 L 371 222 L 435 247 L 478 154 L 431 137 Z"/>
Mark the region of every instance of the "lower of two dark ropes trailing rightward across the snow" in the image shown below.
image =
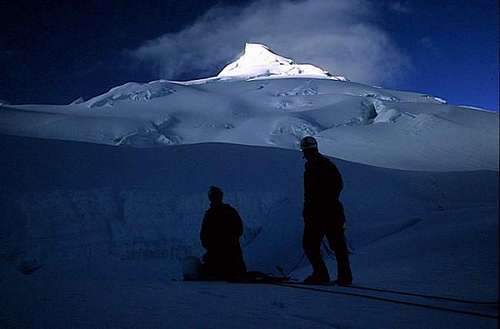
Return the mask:
<path id="1" fill-rule="evenodd" d="M 429 304 L 422 304 L 422 303 L 415 303 L 415 302 L 407 302 L 407 301 L 402 301 L 402 300 L 397 300 L 397 299 L 392 299 L 392 298 L 377 297 L 377 296 L 372 296 L 372 295 L 364 295 L 364 294 L 359 294 L 359 293 L 354 293 L 354 292 L 333 291 L 333 290 L 330 290 L 330 289 L 322 289 L 322 288 L 317 288 L 317 287 L 306 287 L 306 286 L 298 285 L 298 284 L 294 284 L 294 283 L 284 283 L 284 282 L 283 283 L 282 282 L 265 282 L 265 283 L 266 284 L 275 285 L 275 286 L 293 288 L 293 289 L 302 289 L 302 290 L 310 290 L 310 291 L 317 291 L 317 292 L 325 292 L 325 293 L 330 293 L 330 294 L 334 294 L 334 295 L 345 295 L 345 296 L 361 297 L 361 298 L 372 299 L 372 300 L 377 300 L 377 301 L 382 301 L 382 302 L 387 302 L 387 303 L 393 303 L 393 304 L 415 306 L 415 307 L 421 307 L 421 308 L 438 310 L 438 311 L 445 311 L 445 312 L 450 312 L 450 313 L 466 314 L 466 315 L 472 315 L 472 316 L 477 316 L 477 317 L 482 317 L 482 318 L 488 318 L 488 319 L 498 319 L 498 315 L 491 315 L 491 314 L 485 314 L 485 313 L 479 313 L 479 312 L 473 312 L 473 311 L 465 311 L 465 310 L 457 310 L 457 309 L 448 308 L 448 307 L 442 307 L 442 306 L 436 306 L 436 305 L 429 305 Z"/>

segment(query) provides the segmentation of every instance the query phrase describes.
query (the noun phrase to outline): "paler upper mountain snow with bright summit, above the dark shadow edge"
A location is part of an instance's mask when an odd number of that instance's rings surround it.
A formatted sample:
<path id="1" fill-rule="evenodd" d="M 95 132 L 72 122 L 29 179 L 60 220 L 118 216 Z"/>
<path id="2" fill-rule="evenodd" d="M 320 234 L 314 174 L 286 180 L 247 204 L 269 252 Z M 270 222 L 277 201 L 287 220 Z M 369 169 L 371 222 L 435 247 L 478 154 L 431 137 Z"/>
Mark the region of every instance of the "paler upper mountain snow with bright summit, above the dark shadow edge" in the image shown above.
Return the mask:
<path id="1" fill-rule="evenodd" d="M 498 113 L 359 84 L 263 45 L 217 77 L 130 82 L 70 105 L 0 105 L 0 133 L 152 147 L 206 142 L 296 149 L 379 167 L 498 170 Z M 439 161 L 436 161 L 439 159 Z"/>

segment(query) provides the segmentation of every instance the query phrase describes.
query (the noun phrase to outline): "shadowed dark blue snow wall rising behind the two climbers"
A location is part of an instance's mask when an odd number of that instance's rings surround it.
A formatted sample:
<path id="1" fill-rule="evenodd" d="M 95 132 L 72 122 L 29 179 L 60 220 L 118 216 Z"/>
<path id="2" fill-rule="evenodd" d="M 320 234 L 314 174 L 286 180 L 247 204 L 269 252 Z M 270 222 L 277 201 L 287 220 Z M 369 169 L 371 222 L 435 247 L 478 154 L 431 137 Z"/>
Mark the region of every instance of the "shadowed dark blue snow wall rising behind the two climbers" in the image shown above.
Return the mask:
<path id="1" fill-rule="evenodd" d="M 300 258 L 298 151 L 229 144 L 114 148 L 2 136 L 0 261 L 95 271 L 103 262 L 160 261 L 176 273 L 201 255 L 206 190 L 225 191 L 245 222 L 250 267 Z M 497 172 L 426 173 L 335 160 L 349 238 L 369 244 L 432 211 L 497 203 Z M 26 265 L 27 264 L 27 265 Z"/>

